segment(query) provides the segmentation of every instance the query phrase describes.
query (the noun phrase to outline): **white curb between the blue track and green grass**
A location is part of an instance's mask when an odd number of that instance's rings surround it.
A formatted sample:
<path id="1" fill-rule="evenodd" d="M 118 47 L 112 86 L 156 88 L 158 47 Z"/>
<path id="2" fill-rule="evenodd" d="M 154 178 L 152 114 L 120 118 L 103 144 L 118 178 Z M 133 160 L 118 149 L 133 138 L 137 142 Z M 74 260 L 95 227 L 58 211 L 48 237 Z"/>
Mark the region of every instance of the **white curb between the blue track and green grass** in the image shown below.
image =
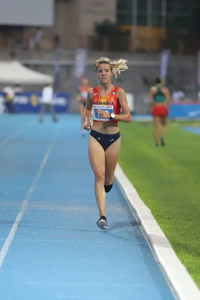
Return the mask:
<path id="1" fill-rule="evenodd" d="M 116 166 L 114 175 L 175 297 L 178 300 L 199 300 L 200 290 L 176 256 L 150 209 L 143 203 L 119 164 Z"/>

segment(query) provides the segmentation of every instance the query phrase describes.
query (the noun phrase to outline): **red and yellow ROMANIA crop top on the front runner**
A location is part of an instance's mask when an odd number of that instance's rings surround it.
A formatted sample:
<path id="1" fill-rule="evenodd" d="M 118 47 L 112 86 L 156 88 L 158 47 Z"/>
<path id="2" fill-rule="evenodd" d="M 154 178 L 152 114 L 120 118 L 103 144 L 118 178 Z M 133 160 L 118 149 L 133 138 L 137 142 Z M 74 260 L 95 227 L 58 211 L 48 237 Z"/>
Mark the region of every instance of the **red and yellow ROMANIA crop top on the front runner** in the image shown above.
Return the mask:
<path id="1" fill-rule="evenodd" d="M 92 95 L 92 109 L 93 109 L 93 121 L 94 122 L 112 122 L 112 123 L 118 123 L 116 120 L 109 120 L 109 118 L 100 118 L 98 116 L 98 112 L 96 110 L 102 109 L 108 113 L 115 113 L 120 114 L 121 105 L 119 104 L 117 100 L 117 89 L 118 86 L 113 86 L 112 90 L 107 96 L 100 96 L 98 93 L 98 87 L 93 87 L 93 95 Z"/>

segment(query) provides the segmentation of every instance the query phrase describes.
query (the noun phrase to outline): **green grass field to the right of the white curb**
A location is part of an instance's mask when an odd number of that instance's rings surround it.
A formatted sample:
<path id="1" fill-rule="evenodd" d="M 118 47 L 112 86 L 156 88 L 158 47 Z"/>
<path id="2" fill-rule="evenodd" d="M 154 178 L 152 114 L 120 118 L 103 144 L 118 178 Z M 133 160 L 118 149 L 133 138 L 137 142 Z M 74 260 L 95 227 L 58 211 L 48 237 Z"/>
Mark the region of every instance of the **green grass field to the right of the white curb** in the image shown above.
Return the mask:
<path id="1" fill-rule="evenodd" d="M 200 135 L 179 125 L 156 148 L 151 123 L 120 123 L 119 164 L 200 287 Z"/>

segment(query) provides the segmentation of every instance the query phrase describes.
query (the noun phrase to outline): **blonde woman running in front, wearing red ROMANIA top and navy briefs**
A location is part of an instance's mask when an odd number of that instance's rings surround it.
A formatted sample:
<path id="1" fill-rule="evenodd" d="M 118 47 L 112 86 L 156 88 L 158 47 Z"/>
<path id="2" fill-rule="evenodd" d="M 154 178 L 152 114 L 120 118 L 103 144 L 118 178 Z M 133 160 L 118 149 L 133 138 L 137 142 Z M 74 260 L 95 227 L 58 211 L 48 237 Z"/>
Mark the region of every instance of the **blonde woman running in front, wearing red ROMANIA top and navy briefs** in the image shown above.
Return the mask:
<path id="1" fill-rule="evenodd" d="M 113 74 L 116 77 L 117 73 L 128 67 L 125 59 L 110 61 L 107 57 L 100 57 L 94 63 L 94 68 L 100 85 L 90 88 L 87 92 L 84 129 L 91 129 L 88 154 L 95 177 L 94 192 L 99 210 L 97 226 L 106 229 L 105 192 L 109 192 L 112 188 L 121 145 L 118 121 L 131 121 L 125 92 L 122 88 L 114 86 L 111 78 Z"/>

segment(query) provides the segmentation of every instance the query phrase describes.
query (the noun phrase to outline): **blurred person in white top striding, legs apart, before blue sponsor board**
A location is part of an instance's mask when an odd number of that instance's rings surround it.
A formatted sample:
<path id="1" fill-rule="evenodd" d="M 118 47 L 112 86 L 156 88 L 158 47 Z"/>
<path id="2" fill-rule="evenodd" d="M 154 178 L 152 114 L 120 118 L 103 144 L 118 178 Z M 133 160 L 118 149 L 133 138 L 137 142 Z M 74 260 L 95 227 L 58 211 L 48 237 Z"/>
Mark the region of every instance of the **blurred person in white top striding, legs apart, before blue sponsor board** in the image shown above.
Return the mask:
<path id="1" fill-rule="evenodd" d="M 53 87 L 52 83 L 47 84 L 41 92 L 41 109 L 39 111 L 39 122 L 43 121 L 43 113 L 46 109 L 49 110 L 54 122 L 57 122 L 55 111 L 52 107 Z"/>

